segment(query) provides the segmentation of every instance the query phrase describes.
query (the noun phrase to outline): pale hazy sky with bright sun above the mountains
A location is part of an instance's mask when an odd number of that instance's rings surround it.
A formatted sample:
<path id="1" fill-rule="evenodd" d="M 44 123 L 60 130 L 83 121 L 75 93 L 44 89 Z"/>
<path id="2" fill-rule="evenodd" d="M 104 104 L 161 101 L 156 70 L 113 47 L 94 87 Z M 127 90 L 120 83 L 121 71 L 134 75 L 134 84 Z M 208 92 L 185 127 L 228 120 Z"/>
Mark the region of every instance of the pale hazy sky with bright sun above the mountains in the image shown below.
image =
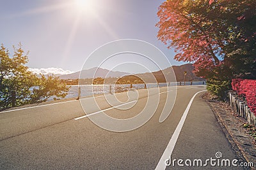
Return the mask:
<path id="1" fill-rule="evenodd" d="M 10 51 L 12 45 L 22 43 L 29 51 L 27 65 L 35 71 L 80 71 L 94 50 L 118 39 L 147 41 L 159 48 L 170 64 L 185 64 L 174 60 L 173 49 L 157 39 L 155 25 L 161 3 L 163 0 L 3 1 L 0 43 Z M 106 69 L 113 67 L 105 65 Z M 131 66 L 118 67 L 118 71 L 141 72 Z"/>

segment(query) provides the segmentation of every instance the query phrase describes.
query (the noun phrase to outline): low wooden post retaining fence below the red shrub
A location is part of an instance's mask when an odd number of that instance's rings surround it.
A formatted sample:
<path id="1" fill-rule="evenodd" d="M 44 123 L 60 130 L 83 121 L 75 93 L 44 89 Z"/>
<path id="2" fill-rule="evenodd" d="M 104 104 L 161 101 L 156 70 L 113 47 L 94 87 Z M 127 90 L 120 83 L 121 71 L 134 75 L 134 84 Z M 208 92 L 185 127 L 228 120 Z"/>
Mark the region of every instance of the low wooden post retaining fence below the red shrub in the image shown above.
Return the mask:
<path id="1" fill-rule="evenodd" d="M 241 117 L 246 118 L 249 124 L 256 126 L 256 116 L 252 111 L 250 111 L 250 108 L 248 108 L 246 101 L 239 98 L 236 92 L 233 91 L 228 92 L 228 96 L 230 107 Z"/>

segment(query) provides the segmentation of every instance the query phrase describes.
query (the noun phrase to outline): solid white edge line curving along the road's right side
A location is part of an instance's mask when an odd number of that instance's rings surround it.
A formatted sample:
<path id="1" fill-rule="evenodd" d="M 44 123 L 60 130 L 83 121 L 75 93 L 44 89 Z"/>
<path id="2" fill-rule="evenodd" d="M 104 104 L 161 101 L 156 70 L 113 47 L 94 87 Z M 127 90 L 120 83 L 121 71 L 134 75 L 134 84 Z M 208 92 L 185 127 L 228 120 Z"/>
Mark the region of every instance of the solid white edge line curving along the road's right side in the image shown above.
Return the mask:
<path id="1" fill-rule="evenodd" d="M 200 92 L 204 92 L 204 91 L 206 91 L 206 90 L 202 90 Z M 179 138 L 180 131 L 181 131 L 182 126 L 183 126 L 183 124 L 186 120 L 186 117 L 188 115 L 188 111 L 191 107 L 191 104 L 193 103 L 193 100 L 195 99 L 196 95 L 200 92 L 196 92 L 196 94 L 194 94 L 194 96 L 190 99 L 186 110 L 184 111 L 182 117 L 180 118 L 179 124 L 177 125 L 175 131 L 173 132 L 172 138 L 170 139 L 168 145 L 166 146 L 166 149 L 164 150 L 164 153 L 163 153 L 161 159 L 159 160 L 159 162 L 156 166 L 157 170 L 166 168 L 165 161 L 170 159 L 170 156 L 172 155 L 172 152 L 173 152 L 173 148 L 176 145 L 177 139 Z"/>

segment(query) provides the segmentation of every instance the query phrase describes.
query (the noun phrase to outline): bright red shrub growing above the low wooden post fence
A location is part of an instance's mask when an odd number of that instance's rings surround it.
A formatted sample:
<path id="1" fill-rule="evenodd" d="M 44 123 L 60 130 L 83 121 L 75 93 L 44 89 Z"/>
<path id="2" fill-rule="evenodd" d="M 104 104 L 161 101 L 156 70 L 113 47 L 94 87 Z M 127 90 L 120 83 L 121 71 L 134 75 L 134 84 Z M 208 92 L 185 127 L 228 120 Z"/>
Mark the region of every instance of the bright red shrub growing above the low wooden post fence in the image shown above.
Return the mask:
<path id="1" fill-rule="evenodd" d="M 233 79 L 232 89 L 237 91 L 237 94 L 245 97 L 248 107 L 256 115 L 256 80 Z"/>

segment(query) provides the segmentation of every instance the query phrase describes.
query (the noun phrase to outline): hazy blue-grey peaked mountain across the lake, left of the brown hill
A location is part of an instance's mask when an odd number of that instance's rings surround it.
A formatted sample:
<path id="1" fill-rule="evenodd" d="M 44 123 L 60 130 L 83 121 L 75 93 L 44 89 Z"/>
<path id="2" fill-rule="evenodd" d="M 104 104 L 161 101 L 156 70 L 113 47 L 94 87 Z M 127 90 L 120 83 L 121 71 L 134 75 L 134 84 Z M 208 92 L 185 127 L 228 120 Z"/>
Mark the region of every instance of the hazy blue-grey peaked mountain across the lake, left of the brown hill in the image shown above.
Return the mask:
<path id="1" fill-rule="evenodd" d="M 60 76 L 61 79 L 78 79 L 79 78 L 79 74 L 80 71 L 77 71 L 76 73 L 72 73 L 72 74 L 66 74 L 66 75 L 62 75 Z M 94 75 L 95 74 L 95 75 Z M 125 74 L 129 74 L 129 73 L 125 73 L 125 72 L 120 72 L 120 71 L 109 71 L 108 69 L 102 69 L 102 68 L 98 68 L 98 67 L 93 67 L 91 69 L 86 69 L 81 71 L 81 75 L 80 78 L 97 78 L 97 77 L 101 77 L 101 78 L 105 78 L 105 77 L 120 77 L 120 76 L 124 76 Z"/>

